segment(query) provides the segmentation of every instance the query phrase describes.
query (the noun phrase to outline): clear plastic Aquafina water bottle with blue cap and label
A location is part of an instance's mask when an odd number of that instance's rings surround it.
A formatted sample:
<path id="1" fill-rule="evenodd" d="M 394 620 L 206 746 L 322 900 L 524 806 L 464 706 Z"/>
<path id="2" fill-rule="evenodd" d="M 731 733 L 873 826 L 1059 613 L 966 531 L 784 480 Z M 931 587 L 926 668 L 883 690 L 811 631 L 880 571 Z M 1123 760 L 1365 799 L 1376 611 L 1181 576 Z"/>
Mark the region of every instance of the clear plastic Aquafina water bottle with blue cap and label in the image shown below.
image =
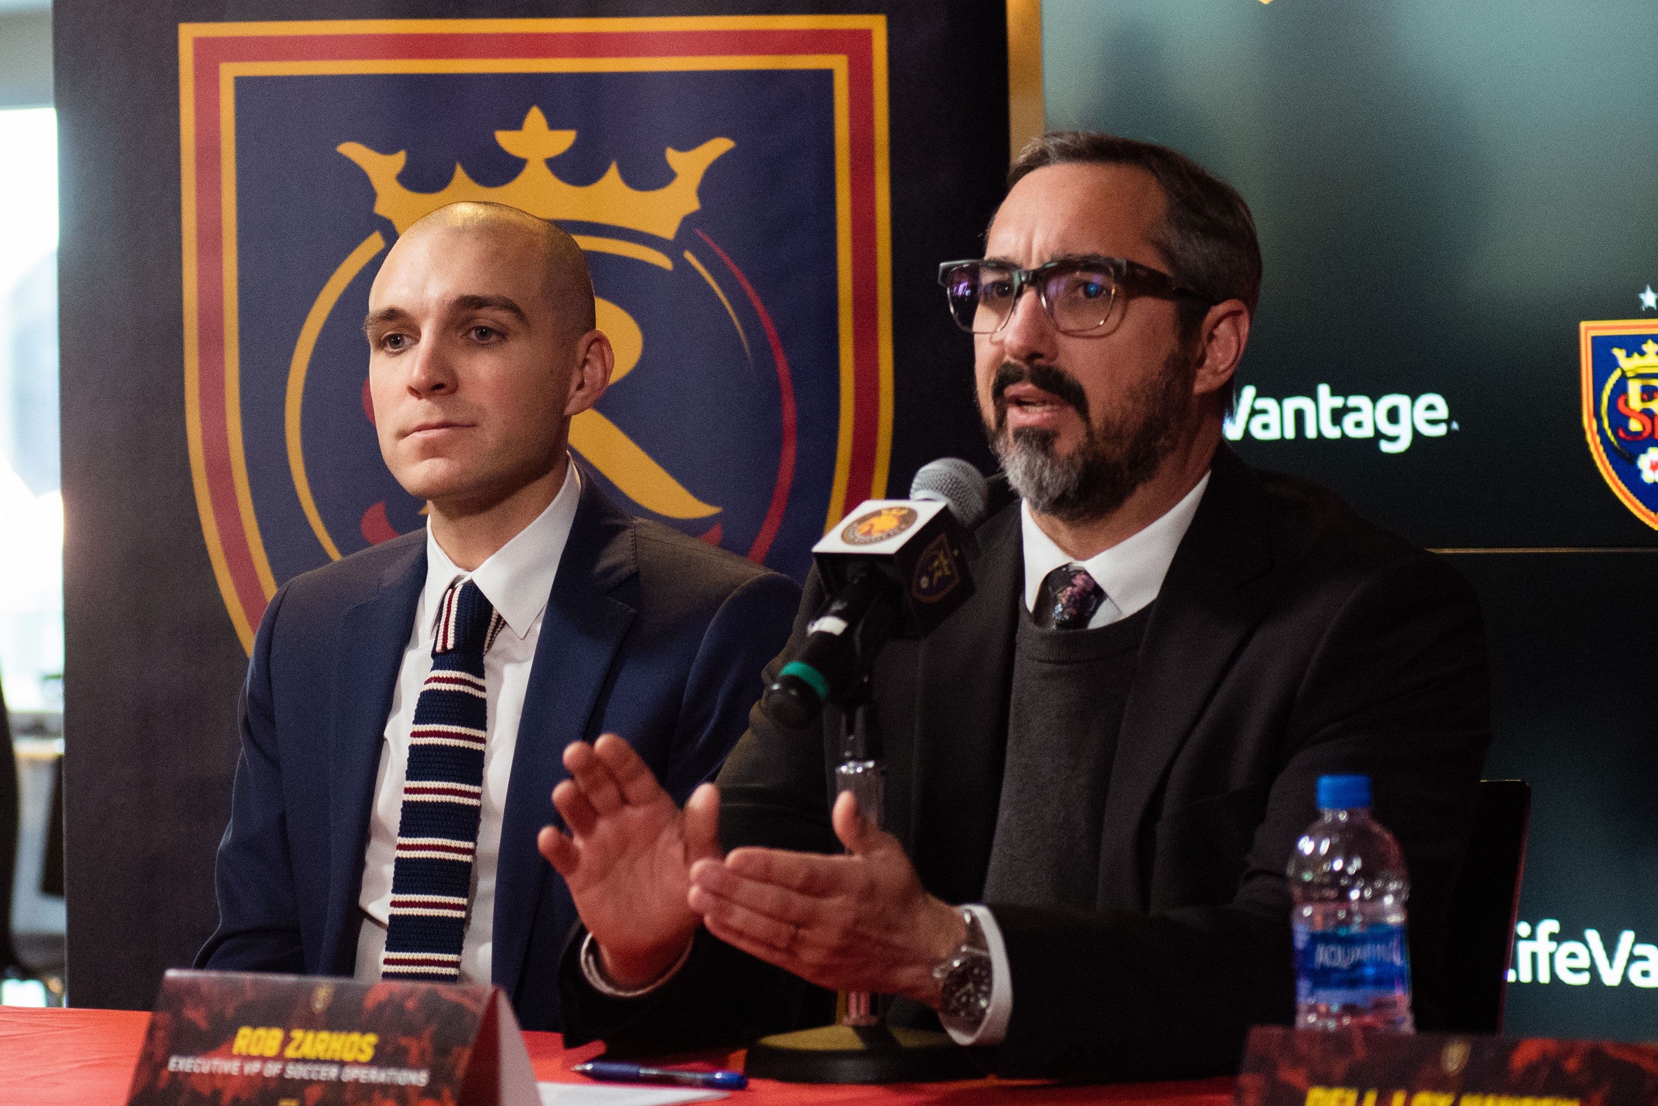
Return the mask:
<path id="1" fill-rule="evenodd" d="M 1370 816 L 1370 776 L 1320 776 L 1320 817 L 1295 842 L 1295 1028 L 1411 1033 L 1399 842 Z"/>

